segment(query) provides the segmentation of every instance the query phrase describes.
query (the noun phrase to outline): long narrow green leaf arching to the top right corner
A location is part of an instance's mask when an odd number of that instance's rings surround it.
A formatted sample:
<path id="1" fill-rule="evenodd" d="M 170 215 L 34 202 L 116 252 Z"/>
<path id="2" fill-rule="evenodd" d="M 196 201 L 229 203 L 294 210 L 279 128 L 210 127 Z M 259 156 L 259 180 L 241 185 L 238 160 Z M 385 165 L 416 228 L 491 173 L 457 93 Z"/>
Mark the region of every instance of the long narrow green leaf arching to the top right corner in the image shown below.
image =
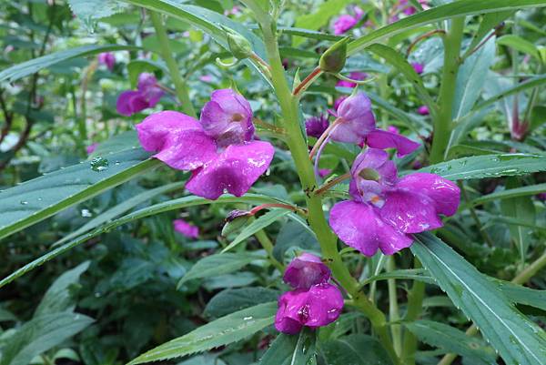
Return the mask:
<path id="1" fill-rule="evenodd" d="M 521 10 L 541 6 L 546 6 L 546 0 L 519 0 L 517 2 L 514 2 L 513 0 L 459 0 L 450 4 L 432 7 L 427 11 L 405 17 L 398 22 L 385 25 L 367 35 L 363 35 L 349 43 L 348 54 L 349 56 L 358 54 L 371 44 L 378 43 L 380 40 L 389 36 L 397 35 L 420 25 L 436 23 L 440 20 L 464 15 L 497 13 L 501 11 Z"/>

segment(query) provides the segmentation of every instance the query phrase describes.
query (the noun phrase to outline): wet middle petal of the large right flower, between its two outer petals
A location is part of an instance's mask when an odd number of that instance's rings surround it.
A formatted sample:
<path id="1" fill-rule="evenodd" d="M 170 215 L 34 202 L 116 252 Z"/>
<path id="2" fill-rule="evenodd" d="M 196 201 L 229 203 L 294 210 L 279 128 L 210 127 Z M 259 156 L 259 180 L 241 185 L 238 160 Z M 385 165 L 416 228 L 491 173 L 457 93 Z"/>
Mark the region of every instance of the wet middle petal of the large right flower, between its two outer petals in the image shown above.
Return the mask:
<path id="1" fill-rule="evenodd" d="M 414 191 L 387 192 L 385 205 L 379 211 L 381 218 L 404 233 L 419 233 L 443 225 L 434 201 Z"/>

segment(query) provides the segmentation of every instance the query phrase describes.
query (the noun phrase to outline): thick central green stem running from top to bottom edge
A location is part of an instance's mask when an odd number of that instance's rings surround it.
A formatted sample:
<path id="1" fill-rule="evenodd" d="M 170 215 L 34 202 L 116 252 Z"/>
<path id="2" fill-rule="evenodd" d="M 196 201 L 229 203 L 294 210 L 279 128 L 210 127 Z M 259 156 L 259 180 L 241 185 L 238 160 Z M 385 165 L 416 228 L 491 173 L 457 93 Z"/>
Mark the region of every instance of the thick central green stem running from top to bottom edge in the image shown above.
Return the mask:
<path id="1" fill-rule="evenodd" d="M 251 1 L 245 1 L 249 7 Z M 323 258 L 329 262 L 329 268 L 341 286 L 347 290 L 353 299 L 353 305 L 360 309 L 370 320 L 373 330 L 379 337 L 394 364 L 399 364 L 399 359 L 389 337 L 385 315 L 377 309 L 363 292 L 359 291 L 357 281 L 350 275 L 338 252 L 338 238 L 330 230 L 324 211 L 322 199 L 313 192 L 317 188 L 317 181 L 313 172 L 313 166 L 308 158 L 308 147 L 299 127 L 298 97 L 293 96 L 284 73 L 281 58 L 278 52 L 276 26 L 269 18 L 257 15 L 258 22 L 264 35 L 264 43 L 268 53 L 268 62 L 271 66 L 272 84 L 278 96 L 278 102 L 283 115 L 287 131 L 288 148 L 292 154 L 298 177 L 303 191 L 306 193 L 308 206 L 309 226 L 317 234 Z"/>

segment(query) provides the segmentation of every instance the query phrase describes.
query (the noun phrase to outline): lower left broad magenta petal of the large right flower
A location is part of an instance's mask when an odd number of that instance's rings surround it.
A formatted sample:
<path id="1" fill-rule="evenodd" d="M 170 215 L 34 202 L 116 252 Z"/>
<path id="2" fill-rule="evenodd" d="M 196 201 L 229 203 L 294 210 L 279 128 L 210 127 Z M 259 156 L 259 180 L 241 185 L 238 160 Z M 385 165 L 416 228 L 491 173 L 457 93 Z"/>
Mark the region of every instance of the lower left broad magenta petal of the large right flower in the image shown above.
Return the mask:
<path id="1" fill-rule="evenodd" d="M 373 256 L 378 248 L 387 255 L 407 248 L 411 238 L 383 222 L 376 209 L 355 201 L 342 201 L 330 211 L 329 224 L 351 248 Z"/>

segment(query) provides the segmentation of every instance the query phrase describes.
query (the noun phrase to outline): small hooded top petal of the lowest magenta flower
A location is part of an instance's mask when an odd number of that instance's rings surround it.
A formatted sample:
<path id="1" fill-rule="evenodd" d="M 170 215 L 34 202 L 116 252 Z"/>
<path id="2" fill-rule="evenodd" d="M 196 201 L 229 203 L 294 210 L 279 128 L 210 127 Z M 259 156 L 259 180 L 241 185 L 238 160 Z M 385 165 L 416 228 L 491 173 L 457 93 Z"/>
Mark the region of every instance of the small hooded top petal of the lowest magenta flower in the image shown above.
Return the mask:
<path id="1" fill-rule="evenodd" d="M 309 289 L 327 283 L 330 276 L 330 269 L 318 256 L 303 253 L 288 264 L 283 279 L 294 289 Z"/>

